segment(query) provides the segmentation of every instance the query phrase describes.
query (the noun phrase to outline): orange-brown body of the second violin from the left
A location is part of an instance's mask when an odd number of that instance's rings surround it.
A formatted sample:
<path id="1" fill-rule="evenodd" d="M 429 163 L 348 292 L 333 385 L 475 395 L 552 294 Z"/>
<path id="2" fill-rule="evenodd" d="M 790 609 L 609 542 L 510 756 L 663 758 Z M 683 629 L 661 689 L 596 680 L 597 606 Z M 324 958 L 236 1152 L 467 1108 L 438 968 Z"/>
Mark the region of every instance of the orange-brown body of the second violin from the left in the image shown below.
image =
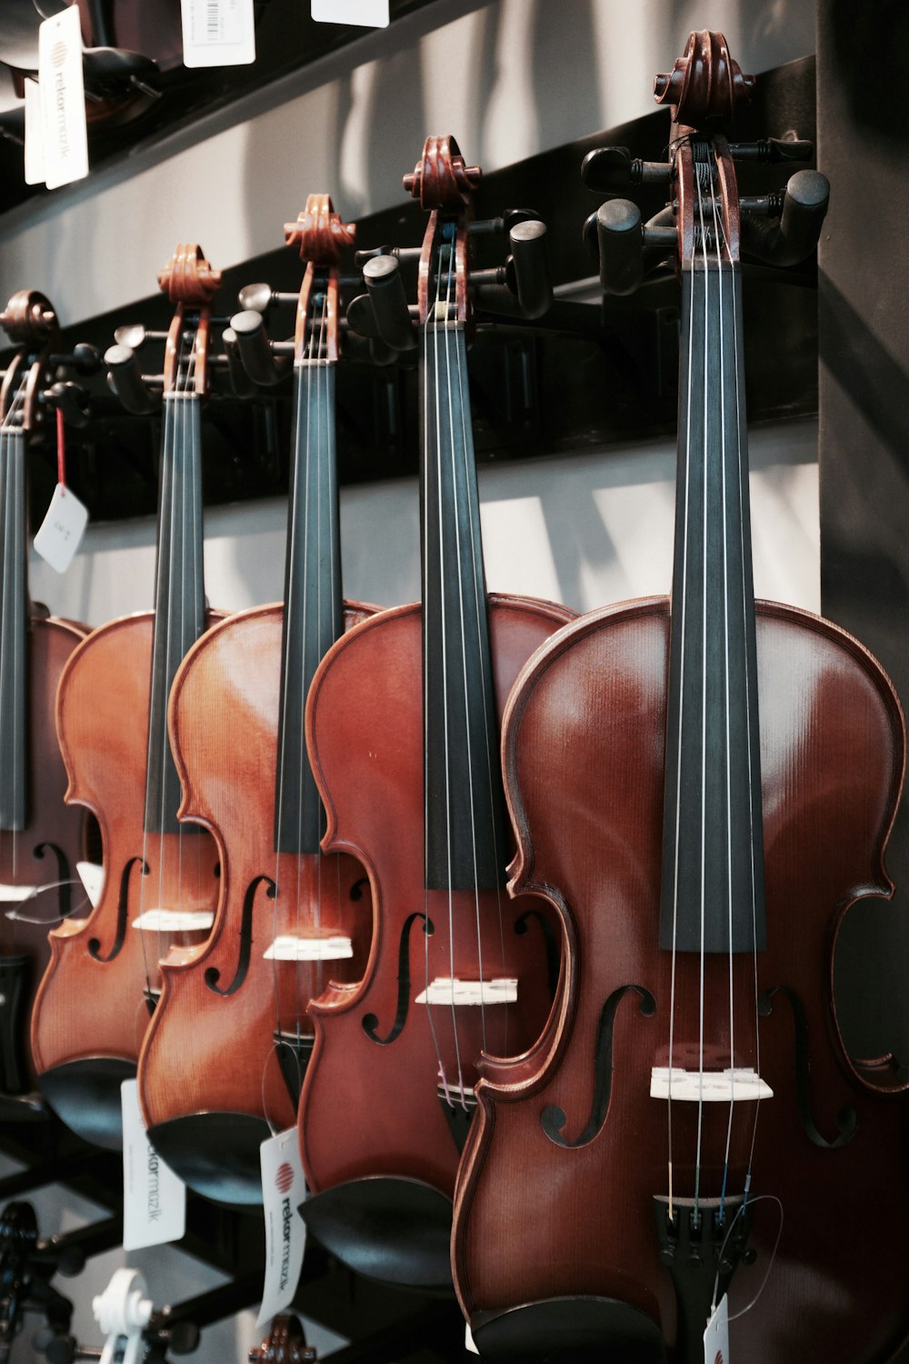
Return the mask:
<path id="1" fill-rule="evenodd" d="M 34 1063 L 53 1108 L 74 1131 L 114 1147 L 120 1083 L 135 1075 L 150 1013 L 146 992 L 161 985 L 158 959 L 172 941 L 189 945 L 207 936 L 134 929 L 140 906 L 149 908 L 142 883 L 184 910 L 210 911 L 218 895 L 218 848 L 209 833 L 179 847 L 177 835 L 143 831 L 153 627 L 151 611 L 101 626 L 60 678 L 67 802 L 98 820 L 105 878 L 91 913 L 50 933 L 31 1024 Z"/>

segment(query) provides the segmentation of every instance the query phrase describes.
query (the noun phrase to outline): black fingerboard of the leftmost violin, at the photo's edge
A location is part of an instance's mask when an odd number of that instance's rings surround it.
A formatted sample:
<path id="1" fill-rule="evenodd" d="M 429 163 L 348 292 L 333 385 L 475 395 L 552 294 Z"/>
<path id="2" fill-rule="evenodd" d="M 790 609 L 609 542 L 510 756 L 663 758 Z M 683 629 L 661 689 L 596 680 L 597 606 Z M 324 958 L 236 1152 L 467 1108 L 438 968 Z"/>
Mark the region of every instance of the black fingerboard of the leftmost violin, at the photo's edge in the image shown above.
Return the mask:
<path id="1" fill-rule="evenodd" d="M 29 587 L 26 550 L 26 438 L 0 432 L 0 829 L 27 822 Z"/>

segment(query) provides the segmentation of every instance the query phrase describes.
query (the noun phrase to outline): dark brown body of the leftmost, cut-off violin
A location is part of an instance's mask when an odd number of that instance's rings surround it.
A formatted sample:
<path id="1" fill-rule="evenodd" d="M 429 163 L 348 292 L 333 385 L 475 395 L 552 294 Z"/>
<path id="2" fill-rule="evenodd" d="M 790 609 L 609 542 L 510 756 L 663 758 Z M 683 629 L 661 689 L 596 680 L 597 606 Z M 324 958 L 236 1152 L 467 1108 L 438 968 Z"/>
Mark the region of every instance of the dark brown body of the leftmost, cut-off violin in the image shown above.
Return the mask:
<path id="1" fill-rule="evenodd" d="M 84 813 L 64 805 L 67 773 L 55 727 L 57 682 L 84 634 L 82 626 L 55 617 L 31 615 L 29 622 L 30 818 L 22 832 L 0 829 L 0 883 L 4 887 L 35 885 L 40 891 L 33 899 L 7 902 L 0 914 L 0 993 L 5 1013 L 0 1043 L 3 1097 L 35 1087 L 27 1046 L 29 1019 L 50 955 L 48 932 L 60 921 L 65 922 L 84 902 L 76 873 L 76 862 L 86 854 Z"/>

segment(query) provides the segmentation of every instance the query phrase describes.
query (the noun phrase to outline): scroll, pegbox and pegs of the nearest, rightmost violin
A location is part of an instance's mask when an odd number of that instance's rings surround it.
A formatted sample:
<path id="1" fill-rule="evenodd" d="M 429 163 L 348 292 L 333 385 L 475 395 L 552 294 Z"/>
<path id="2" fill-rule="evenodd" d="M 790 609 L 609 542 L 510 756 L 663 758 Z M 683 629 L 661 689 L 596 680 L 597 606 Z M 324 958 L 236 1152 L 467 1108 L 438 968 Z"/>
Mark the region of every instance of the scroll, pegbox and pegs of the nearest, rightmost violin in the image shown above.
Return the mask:
<path id="1" fill-rule="evenodd" d="M 751 98 L 754 85 L 754 76 L 744 75 L 729 56 L 721 33 L 692 33 L 673 70 L 656 78 L 657 104 L 672 110 L 671 160 L 641 161 L 627 147 L 598 147 L 585 157 L 581 175 L 590 190 L 612 195 L 635 184 L 662 181 L 671 187 L 666 209 L 646 224 L 639 207 L 623 198 L 608 199 L 587 218 L 585 240 L 598 256 L 604 292 L 634 293 L 647 270 L 666 256 L 675 255 L 677 266 L 691 261 L 700 243 L 694 222 L 695 172 L 688 154 L 696 139 L 709 139 L 714 146 L 724 213 L 722 250 L 729 259 L 737 261 L 741 250 L 769 265 L 789 266 L 814 251 L 830 194 L 820 172 L 797 170 L 782 190 L 737 196 L 733 162 L 790 165 L 814 155 L 812 143 L 795 136 L 726 142 L 721 124 Z"/>

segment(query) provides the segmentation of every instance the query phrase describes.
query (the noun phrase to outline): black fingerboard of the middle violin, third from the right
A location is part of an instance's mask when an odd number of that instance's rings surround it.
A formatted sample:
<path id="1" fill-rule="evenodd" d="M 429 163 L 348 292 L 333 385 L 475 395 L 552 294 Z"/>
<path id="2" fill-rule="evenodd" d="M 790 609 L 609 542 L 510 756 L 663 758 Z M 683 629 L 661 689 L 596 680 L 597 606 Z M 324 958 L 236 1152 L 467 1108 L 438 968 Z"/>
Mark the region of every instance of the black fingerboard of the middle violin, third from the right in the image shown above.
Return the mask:
<path id="1" fill-rule="evenodd" d="M 343 630 L 334 363 L 297 364 L 294 394 L 274 837 L 277 853 L 318 853 L 324 816 L 304 713 L 315 671 Z"/>

